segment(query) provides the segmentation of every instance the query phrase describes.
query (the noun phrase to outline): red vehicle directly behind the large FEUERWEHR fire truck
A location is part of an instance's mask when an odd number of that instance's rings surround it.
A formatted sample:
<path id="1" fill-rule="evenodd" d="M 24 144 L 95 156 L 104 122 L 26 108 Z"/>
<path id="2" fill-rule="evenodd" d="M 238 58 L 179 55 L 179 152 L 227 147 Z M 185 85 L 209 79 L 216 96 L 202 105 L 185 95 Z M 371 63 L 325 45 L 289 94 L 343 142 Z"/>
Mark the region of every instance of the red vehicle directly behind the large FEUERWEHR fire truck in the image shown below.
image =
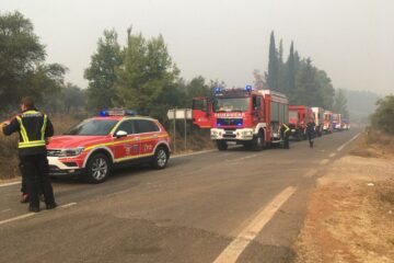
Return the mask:
<path id="1" fill-rule="evenodd" d="M 297 140 L 306 138 L 305 129 L 306 123 L 313 117 L 312 108 L 304 105 L 289 106 L 289 127 L 291 136 Z"/>

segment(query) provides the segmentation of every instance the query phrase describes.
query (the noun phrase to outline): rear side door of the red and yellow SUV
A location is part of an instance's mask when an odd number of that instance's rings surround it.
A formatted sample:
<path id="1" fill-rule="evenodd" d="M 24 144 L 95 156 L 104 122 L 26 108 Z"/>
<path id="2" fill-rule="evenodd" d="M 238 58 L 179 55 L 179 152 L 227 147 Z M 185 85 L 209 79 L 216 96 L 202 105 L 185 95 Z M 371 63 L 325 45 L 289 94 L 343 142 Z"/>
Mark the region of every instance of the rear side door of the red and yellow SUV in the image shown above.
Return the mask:
<path id="1" fill-rule="evenodd" d="M 159 141 L 160 128 L 153 119 L 134 119 L 136 134 L 139 136 L 141 157 L 154 153 Z"/>

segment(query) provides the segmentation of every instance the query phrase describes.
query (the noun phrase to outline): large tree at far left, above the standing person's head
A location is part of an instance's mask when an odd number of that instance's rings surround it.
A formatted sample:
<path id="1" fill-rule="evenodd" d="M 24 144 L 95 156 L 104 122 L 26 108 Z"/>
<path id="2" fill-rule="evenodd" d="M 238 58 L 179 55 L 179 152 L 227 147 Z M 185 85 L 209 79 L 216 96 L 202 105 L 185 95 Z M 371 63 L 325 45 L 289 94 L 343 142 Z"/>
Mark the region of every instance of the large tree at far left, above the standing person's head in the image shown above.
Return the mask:
<path id="1" fill-rule="evenodd" d="M 21 96 L 36 100 L 62 81 L 65 68 L 45 65 L 45 48 L 28 19 L 20 12 L 0 15 L 0 104 L 19 103 Z M 43 87 L 45 85 L 45 87 Z M 56 88 L 56 87 L 55 87 Z"/>

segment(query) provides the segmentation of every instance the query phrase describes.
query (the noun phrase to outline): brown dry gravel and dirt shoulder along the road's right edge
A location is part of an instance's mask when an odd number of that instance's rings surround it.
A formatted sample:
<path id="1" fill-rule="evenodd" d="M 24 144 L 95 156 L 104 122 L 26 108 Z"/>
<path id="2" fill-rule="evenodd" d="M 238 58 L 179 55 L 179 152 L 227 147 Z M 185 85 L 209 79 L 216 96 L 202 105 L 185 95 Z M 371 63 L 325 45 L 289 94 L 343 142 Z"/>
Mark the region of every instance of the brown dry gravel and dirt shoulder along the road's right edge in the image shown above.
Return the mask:
<path id="1" fill-rule="evenodd" d="M 394 262 L 394 155 L 391 141 L 380 142 L 363 134 L 317 180 L 294 244 L 298 263 Z"/>

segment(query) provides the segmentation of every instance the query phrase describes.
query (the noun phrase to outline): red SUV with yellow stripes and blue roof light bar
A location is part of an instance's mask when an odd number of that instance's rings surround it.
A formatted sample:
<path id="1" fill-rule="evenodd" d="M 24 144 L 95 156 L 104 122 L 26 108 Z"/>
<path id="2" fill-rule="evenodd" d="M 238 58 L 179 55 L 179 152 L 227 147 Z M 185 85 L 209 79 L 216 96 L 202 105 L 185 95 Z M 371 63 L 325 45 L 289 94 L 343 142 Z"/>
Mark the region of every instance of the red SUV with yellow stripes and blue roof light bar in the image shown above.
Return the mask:
<path id="1" fill-rule="evenodd" d="M 47 145 L 49 175 L 84 175 L 91 183 L 104 182 L 120 164 L 163 169 L 170 152 L 169 134 L 157 119 L 118 108 L 102 111 Z"/>

